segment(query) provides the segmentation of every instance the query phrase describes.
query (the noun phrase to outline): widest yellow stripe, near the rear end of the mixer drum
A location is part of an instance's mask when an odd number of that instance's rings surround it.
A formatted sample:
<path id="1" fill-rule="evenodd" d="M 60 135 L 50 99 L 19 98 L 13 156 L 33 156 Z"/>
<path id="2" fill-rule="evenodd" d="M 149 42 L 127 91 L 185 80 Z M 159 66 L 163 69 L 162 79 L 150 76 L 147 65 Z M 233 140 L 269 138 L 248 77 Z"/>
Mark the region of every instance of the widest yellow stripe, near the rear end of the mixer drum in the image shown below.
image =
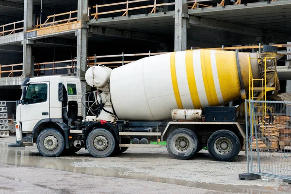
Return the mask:
<path id="1" fill-rule="evenodd" d="M 216 51 L 216 66 L 221 93 L 225 103 L 240 97 L 240 80 L 233 51 Z"/>

